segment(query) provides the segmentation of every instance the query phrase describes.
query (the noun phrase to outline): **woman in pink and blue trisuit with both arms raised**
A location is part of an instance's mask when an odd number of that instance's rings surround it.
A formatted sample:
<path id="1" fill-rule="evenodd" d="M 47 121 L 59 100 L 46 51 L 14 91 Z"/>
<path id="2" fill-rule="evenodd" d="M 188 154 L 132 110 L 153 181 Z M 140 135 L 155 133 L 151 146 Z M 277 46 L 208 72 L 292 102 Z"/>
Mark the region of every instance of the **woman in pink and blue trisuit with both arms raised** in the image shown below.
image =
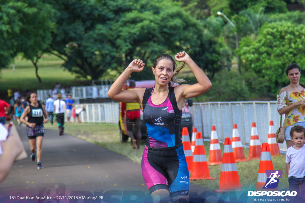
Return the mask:
<path id="1" fill-rule="evenodd" d="M 122 90 L 130 74 L 144 68 L 144 62 L 135 59 L 108 91 L 113 100 L 137 102 L 142 106 L 148 135 L 142 156 L 142 175 L 154 202 L 188 202 L 189 172 L 180 138 L 181 110 L 185 99 L 199 96 L 211 87 L 208 77 L 187 53 L 178 52 L 175 59 L 183 62 L 176 71 L 176 62 L 170 55 L 156 58 L 152 67 L 156 79 L 153 88 Z M 185 64 L 198 83 L 173 87 L 174 82 L 181 82 L 175 76 Z"/>

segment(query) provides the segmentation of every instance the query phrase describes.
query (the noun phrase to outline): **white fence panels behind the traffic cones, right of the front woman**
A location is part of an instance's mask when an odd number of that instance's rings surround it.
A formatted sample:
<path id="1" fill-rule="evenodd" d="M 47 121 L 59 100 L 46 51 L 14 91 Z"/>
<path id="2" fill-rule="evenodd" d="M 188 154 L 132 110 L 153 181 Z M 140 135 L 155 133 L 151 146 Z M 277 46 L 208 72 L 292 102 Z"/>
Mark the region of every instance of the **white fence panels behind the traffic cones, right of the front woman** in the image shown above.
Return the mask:
<path id="1" fill-rule="evenodd" d="M 195 103 L 191 111 L 194 127 L 202 132 L 204 138 L 211 137 L 211 126 L 214 125 L 218 139 L 224 142 L 225 137 L 232 137 L 233 124 L 237 124 L 243 145 L 250 143 L 253 122 L 261 143 L 268 142 L 270 121 L 273 121 L 275 131 L 280 123 L 276 101 Z M 279 147 L 281 151 L 286 151 L 285 142 Z"/>

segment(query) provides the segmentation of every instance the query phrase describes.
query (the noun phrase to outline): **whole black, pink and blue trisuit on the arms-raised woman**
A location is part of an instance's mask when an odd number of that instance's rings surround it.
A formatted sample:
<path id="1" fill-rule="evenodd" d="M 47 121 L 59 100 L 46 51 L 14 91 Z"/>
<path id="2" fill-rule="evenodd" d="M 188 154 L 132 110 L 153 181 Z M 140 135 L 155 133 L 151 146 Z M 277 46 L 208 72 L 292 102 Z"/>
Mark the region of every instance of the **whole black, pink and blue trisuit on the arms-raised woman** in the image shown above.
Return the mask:
<path id="1" fill-rule="evenodd" d="M 147 138 L 142 156 L 142 175 L 150 191 L 166 189 L 172 197 L 188 195 L 189 172 L 180 138 L 181 110 L 174 87 L 159 105 L 152 103 L 154 88 L 145 90 L 143 120 Z"/>

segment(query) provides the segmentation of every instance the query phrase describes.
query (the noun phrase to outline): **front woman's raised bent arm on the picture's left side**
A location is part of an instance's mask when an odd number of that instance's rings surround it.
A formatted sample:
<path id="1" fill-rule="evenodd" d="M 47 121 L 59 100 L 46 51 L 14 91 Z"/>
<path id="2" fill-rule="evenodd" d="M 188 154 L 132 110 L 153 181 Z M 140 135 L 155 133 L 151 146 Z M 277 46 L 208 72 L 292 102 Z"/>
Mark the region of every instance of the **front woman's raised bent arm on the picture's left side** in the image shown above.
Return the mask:
<path id="1" fill-rule="evenodd" d="M 122 90 L 124 83 L 132 72 L 140 72 L 144 69 L 144 62 L 141 59 L 135 59 L 127 66 L 124 72 L 113 82 L 108 90 L 107 95 L 119 102 L 137 102 L 141 104 L 144 88 L 135 88 L 130 90 Z M 142 95 L 142 97 L 141 97 Z"/>

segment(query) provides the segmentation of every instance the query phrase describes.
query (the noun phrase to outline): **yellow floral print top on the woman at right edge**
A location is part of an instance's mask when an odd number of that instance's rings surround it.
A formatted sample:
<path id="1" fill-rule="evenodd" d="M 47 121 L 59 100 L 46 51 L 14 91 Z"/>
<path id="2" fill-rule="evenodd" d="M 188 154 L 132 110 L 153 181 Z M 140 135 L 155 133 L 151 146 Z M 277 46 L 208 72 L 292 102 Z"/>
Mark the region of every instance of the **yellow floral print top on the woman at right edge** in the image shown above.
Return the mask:
<path id="1" fill-rule="evenodd" d="M 288 91 L 288 99 L 289 99 L 289 105 L 305 99 L 305 89 L 303 89 L 300 92 Z M 284 91 L 282 92 L 282 94 L 278 95 L 278 110 L 280 110 L 283 107 L 287 107 L 286 101 L 287 101 L 286 91 Z M 292 126 L 293 124 L 296 124 L 298 122 L 304 122 L 304 121 L 305 121 L 305 106 L 301 105 L 298 106 L 297 108 L 294 108 L 292 111 L 288 113 L 285 122 L 285 128 L 288 126 Z"/>

